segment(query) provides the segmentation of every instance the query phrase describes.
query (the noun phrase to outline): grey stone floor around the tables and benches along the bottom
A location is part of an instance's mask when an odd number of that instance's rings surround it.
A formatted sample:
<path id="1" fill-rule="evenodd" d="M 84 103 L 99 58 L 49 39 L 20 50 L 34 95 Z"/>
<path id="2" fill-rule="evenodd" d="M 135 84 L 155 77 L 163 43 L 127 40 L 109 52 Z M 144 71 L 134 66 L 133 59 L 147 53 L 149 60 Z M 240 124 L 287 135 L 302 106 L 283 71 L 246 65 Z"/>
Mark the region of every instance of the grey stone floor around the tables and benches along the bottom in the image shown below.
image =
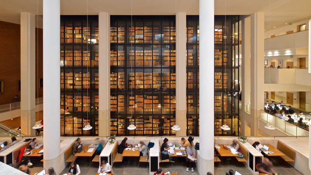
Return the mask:
<path id="1" fill-rule="evenodd" d="M 223 161 L 215 163 L 215 175 L 225 175 L 229 169 L 237 170 L 243 175 L 251 175 L 252 173 L 245 167 L 244 163 L 240 163 L 235 159 Z M 290 166 L 290 164 L 286 163 L 282 158 L 273 158 L 271 159 L 274 169 L 276 170 L 278 175 L 301 175 L 299 171 Z M 31 174 L 37 173 L 42 170 L 43 163 L 32 160 L 34 164 L 30 167 Z M 78 158 L 77 164 L 79 164 L 81 169 L 81 175 L 95 175 L 98 170 L 98 163 L 88 162 L 86 158 Z M 160 163 L 160 168 L 165 172 L 169 171 L 171 173 L 177 173 L 178 175 L 186 175 L 186 162 L 176 161 L 175 163 Z M 61 175 L 67 173 L 69 169 L 69 165 L 60 173 Z M 194 168 L 195 174 L 197 173 L 197 168 Z M 149 175 L 149 163 L 140 163 L 138 158 L 129 158 L 127 161 L 122 163 L 114 163 L 113 171 L 115 175 L 128 175 L 128 174 L 136 174 L 136 175 Z M 190 173 L 191 174 L 191 173 Z"/>

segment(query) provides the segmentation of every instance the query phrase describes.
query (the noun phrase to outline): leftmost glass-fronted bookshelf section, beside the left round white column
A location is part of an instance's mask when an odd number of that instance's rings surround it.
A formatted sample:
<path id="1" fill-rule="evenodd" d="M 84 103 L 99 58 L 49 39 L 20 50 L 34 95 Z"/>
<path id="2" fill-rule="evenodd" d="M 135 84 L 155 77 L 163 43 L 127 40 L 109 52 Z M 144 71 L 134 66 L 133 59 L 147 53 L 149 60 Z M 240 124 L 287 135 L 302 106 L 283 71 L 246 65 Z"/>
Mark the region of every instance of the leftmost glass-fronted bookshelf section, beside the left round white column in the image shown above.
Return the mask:
<path id="1" fill-rule="evenodd" d="M 98 135 L 98 16 L 62 15 L 60 32 L 61 135 Z"/>

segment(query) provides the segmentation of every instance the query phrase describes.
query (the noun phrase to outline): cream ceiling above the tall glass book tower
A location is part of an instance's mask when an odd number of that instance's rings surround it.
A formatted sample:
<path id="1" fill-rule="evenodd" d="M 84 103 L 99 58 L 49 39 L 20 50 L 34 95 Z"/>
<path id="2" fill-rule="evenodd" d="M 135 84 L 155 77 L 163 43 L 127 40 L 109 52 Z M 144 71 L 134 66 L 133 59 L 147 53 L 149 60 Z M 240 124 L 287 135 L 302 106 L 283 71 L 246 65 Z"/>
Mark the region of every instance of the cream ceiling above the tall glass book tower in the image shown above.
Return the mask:
<path id="1" fill-rule="evenodd" d="M 43 0 L 0 0 L 0 21 L 20 24 L 20 12 L 42 15 L 42 4 Z M 133 15 L 174 15 L 176 11 L 199 14 L 199 0 L 132 0 L 132 7 Z M 310 7 L 311 0 L 215 0 L 215 15 L 265 12 L 265 29 L 269 30 L 310 19 Z M 131 15 L 131 1 L 61 0 L 61 15 L 97 15 L 99 12 Z"/>

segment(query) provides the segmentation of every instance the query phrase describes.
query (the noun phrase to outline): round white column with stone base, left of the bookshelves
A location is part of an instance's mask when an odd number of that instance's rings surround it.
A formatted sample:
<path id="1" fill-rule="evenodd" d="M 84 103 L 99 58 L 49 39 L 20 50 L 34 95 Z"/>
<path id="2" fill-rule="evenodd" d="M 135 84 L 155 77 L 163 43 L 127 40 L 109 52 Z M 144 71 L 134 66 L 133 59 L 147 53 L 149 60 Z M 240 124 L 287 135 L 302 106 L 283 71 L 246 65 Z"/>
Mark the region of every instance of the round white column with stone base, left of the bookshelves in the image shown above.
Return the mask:
<path id="1" fill-rule="evenodd" d="M 60 155 L 60 0 L 43 0 L 44 168 L 59 173 Z"/>

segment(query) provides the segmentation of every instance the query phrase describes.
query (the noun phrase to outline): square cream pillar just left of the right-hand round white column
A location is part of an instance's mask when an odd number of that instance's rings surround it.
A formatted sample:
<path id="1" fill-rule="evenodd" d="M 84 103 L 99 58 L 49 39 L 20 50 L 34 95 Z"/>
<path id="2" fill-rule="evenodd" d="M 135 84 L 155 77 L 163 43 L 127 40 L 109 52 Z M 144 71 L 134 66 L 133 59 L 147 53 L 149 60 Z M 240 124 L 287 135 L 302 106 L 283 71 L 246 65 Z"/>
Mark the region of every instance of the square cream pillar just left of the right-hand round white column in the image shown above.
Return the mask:
<path id="1" fill-rule="evenodd" d="M 186 13 L 176 13 L 176 136 L 187 134 L 186 112 Z"/>

